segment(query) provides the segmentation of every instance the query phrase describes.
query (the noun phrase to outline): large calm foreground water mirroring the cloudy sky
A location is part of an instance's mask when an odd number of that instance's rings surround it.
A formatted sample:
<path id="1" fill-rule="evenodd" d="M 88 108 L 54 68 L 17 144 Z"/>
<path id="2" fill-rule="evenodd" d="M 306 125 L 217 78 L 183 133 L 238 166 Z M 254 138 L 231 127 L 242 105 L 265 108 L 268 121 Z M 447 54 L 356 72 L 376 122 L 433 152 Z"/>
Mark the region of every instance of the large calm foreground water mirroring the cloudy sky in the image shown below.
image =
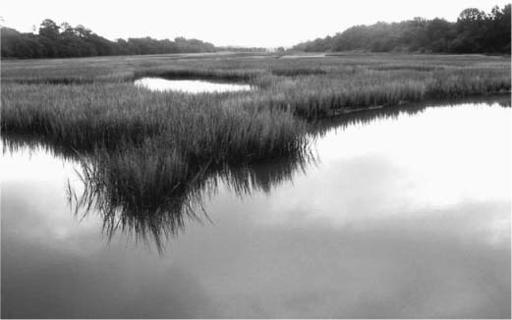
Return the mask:
<path id="1" fill-rule="evenodd" d="M 221 183 L 162 254 L 71 212 L 73 160 L 6 152 L 2 316 L 509 318 L 511 109 L 351 117 L 302 169 Z"/>

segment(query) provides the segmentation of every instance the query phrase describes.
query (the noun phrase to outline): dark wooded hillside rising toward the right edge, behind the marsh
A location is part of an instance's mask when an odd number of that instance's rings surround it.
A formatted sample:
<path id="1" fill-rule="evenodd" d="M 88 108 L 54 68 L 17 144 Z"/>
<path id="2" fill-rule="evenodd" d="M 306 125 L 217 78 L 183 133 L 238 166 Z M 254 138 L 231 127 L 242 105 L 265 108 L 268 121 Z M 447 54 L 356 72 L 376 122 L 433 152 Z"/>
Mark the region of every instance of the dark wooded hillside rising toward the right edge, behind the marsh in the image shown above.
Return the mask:
<path id="1" fill-rule="evenodd" d="M 465 9 L 456 22 L 414 18 L 354 26 L 332 37 L 300 43 L 293 49 L 510 54 L 510 4 L 496 6 L 489 14 L 475 8 Z"/>

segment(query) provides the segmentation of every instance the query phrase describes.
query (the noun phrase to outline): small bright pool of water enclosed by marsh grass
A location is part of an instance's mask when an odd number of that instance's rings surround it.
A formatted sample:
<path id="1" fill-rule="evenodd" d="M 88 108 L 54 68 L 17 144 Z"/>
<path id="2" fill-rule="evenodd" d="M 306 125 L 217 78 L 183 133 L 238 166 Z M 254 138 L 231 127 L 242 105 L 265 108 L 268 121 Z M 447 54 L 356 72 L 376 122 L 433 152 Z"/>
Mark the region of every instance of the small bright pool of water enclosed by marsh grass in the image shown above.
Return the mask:
<path id="1" fill-rule="evenodd" d="M 154 91 L 181 91 L 186 93 L 221 93 L 235 91 L 249 91 L 252 87 L 248 84 L 220 83 L 205 80 L 169 80 L 163 78 L 146 77 L 135 81 L 136 86 L 148 88 Z"/>

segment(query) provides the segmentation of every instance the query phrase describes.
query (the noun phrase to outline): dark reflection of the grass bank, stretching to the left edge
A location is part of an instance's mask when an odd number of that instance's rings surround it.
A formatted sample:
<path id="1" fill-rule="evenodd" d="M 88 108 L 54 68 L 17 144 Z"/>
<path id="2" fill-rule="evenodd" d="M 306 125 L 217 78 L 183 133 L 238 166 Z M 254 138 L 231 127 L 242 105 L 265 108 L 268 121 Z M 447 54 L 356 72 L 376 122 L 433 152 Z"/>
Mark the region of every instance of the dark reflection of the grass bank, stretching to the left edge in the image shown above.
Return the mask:
<path id="1" fill-rule="evenodd" d="M 16 135 L 4 135 L 2 141 L 4 154 L 43 152 L 73 163 L 75 181 L 67 181 L 66 194 L 75 216 L 84 219 L 99 213 L 109 240 L 117 232 L 129 233 L 160 252 L 186 221 L 211 222 L 203 203 L 221 186 L 239 197 L 260 191 L 270 194 L 313 162 L 312 155 L 304 153 L 258 163 L 207 164 L 180 172 L 183 177 L 176 179 L 175 158 L 161 158 L 160 153 L 154 157 L 146 150 L 137 154 L 137 149 L 77 153 L 40 138 Z M 148 171 L 156 173 L 144 174 Z"/>

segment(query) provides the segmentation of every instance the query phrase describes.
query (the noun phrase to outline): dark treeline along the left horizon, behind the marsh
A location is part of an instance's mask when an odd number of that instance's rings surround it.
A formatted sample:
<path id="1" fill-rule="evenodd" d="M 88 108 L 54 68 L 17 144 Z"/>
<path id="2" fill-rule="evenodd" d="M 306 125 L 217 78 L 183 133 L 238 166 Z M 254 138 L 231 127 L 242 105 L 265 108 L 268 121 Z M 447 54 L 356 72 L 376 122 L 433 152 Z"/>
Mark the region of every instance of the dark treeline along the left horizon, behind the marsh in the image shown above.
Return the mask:
<path id="1" fill-rule="evenodd" d="M 82 25 L 60 26 L 46 19 L 39 33 L 21 33 L 1 28 L 2 58 L 68 58 L 109 55 L 214 52 L 211 43 L 196 39 L 156 40 L 150 37 L 110 41 Z"/>

